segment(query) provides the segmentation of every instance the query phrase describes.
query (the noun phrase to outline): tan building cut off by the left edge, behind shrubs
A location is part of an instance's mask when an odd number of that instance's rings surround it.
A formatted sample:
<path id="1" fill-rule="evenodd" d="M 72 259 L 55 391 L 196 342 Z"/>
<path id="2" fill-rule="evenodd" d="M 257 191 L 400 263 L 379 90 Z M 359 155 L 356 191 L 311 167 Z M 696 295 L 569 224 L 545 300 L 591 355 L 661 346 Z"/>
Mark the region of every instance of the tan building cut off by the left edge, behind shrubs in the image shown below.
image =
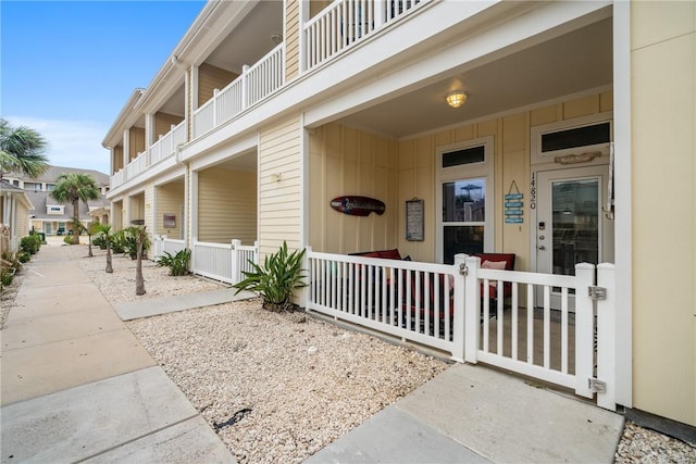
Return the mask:
<path id="1" fill-rule="evenodd" d="M 34 209 L 24 189 L 0 180 L 0 255 L 17 251 L 22 237 L 29 235 L 29 212 Z"/>

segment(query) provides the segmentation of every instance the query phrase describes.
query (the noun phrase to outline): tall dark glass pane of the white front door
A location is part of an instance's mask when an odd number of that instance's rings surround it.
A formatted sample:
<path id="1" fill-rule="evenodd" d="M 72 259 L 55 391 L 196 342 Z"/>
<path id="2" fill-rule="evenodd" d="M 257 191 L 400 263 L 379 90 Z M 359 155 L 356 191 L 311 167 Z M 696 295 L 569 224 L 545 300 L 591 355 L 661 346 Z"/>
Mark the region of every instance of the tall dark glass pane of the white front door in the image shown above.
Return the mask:
<path id="1" fill-rule="evenodd" d="M 599 181 L 552 183 L 554 274 L 575 275 L 576 263 L 599 261 Z"/>

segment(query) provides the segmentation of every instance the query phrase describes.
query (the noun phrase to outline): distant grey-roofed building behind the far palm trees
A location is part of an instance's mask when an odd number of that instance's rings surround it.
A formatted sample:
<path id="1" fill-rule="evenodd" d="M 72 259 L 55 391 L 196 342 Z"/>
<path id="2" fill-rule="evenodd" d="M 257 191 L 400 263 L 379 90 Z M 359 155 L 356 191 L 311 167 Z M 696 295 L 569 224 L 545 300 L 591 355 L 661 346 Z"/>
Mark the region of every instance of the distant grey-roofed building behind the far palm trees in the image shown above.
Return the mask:
<path id="1" fill-rule="evenodd" d="M 29 227 L 46 235 L 65 235 L 73 229 L 73 205 L 61 204 L 51 197 L 51 191 L 58 184 L 58 178 L 62 174 L 83 173 L 89 174 L 97 180 L 102 197 L 99 200 L 90 200 L 88 204 L 79 202 L 79 221 L 89 224 L 92 221 L 108 223 L 109 200 L 109 176 L 94 170 L 82 170 L 77 167 L 50 166 L 41 176 L 36 179 L 23 177 L 16 173 L 9 173 L 3 176 L 4 180 L 22 189 L 30 199 L 34 208 L 29 211 Z M 96 212 L 96 213 L 94 213 Z"/>

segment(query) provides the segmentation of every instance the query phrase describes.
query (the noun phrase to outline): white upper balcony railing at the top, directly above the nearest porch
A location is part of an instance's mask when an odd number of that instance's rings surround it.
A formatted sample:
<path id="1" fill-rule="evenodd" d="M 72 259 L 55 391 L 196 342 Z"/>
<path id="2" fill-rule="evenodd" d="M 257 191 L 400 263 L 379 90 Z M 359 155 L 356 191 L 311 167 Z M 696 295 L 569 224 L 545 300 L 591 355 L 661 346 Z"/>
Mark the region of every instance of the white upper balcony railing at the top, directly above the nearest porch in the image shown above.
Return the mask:
<path id="1" fill-rule="evenodd" d="M 335 0 L 304 24 L 307 70 L 430 0 Z"/>

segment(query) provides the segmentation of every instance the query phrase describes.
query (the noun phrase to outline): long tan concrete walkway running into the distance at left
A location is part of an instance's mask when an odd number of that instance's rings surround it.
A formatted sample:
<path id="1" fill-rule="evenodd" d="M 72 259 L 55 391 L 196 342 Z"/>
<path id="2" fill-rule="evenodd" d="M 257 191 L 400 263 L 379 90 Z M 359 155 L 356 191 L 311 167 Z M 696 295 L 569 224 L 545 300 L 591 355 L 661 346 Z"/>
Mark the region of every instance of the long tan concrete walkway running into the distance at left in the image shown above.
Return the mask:
<path id="1" fill-rule="evenodd" d="M 234 463 L 76 261 L 45 246 L 0 331 L 2 463 Z"/>

